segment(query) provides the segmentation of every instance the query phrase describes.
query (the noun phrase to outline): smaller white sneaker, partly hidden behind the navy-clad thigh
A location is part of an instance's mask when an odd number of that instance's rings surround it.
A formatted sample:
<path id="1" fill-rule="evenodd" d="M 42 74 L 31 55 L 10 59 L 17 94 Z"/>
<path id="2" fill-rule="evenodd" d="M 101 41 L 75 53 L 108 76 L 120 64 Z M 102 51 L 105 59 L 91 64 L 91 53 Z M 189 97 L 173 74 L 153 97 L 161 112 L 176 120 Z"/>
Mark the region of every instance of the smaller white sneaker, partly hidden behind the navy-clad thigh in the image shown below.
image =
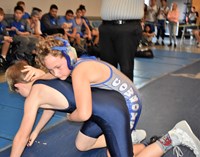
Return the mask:
<path id="1" fill-rule="evenodd" d="M 143 141 L 147 136 L 147 133 L 145 130 L 133 130 L 131 133 L 132 143 L 140 143 Z"/>

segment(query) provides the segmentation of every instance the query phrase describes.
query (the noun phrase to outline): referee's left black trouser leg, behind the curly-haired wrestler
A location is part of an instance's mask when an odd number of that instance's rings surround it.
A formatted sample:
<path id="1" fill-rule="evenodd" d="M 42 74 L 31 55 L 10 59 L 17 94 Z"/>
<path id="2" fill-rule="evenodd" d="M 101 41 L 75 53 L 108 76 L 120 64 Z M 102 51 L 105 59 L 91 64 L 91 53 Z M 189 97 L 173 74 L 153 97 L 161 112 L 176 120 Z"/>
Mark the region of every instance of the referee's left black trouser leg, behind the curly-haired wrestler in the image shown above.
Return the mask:
<path id="1" fill-rule="evenodd" d="M 112 24 L 101 24 L 99 27 L 99 46 L 100 58 L 117 68 L 117 56 L 112 41 L 114 32 Z"/>

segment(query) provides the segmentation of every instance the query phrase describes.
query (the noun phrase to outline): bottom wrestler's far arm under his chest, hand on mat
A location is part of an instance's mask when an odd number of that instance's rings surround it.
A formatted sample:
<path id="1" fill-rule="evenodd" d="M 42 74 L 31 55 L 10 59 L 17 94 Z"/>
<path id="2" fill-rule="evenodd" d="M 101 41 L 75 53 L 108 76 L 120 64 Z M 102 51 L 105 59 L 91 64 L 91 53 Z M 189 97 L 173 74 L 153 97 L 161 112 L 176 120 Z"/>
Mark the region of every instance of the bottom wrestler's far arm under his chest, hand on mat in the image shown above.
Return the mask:
<path id="1" fill-rule="evenodd" d="M 54 110 L 44 110 L 42 113 L 42 116 L 33 130 L 33 132 L 30 135 L 30 138 L 28 140 L 27 146 L 31 146 L 35 139 L 37 138 L 38 134 L 40 131 L 44 128 L 44 126 L 47 124 L 47 122 L 51 119 L 51 117 L 54 115 L 55 111 Z"/>

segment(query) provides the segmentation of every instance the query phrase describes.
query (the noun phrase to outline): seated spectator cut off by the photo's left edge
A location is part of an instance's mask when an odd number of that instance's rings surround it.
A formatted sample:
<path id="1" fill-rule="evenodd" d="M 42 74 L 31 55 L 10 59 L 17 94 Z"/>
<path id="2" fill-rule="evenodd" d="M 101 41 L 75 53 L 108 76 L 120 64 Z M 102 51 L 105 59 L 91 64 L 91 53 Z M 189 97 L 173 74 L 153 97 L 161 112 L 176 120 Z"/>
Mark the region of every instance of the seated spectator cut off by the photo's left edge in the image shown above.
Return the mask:
<path id="1" fill-rule="evenodd" d="M 5 71 L 8 66 L 6 56 L 10 47 L 10 43 L 12 42 L 12 37 L 7 34 L 7 23 L 4 20 L 4 16 L 4 10 L 0 8 L 0 43 L 2 45 L 0 54 L 0 71 Z"/>

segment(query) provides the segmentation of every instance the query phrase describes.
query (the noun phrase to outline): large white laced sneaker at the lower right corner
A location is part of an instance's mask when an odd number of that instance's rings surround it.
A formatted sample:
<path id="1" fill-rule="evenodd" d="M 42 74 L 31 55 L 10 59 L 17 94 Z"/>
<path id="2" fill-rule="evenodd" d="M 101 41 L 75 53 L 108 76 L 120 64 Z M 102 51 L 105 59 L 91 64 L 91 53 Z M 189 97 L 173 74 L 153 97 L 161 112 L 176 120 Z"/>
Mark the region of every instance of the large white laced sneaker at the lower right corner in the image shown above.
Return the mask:
<path id="1" fill-rule="evenodd" d="M 172 139 L 173 146 L 187 146 L 193 150 L 196 157 L 200 157 L 200 141 L 185 120 L 177 123 L 168 133 Z"/>

